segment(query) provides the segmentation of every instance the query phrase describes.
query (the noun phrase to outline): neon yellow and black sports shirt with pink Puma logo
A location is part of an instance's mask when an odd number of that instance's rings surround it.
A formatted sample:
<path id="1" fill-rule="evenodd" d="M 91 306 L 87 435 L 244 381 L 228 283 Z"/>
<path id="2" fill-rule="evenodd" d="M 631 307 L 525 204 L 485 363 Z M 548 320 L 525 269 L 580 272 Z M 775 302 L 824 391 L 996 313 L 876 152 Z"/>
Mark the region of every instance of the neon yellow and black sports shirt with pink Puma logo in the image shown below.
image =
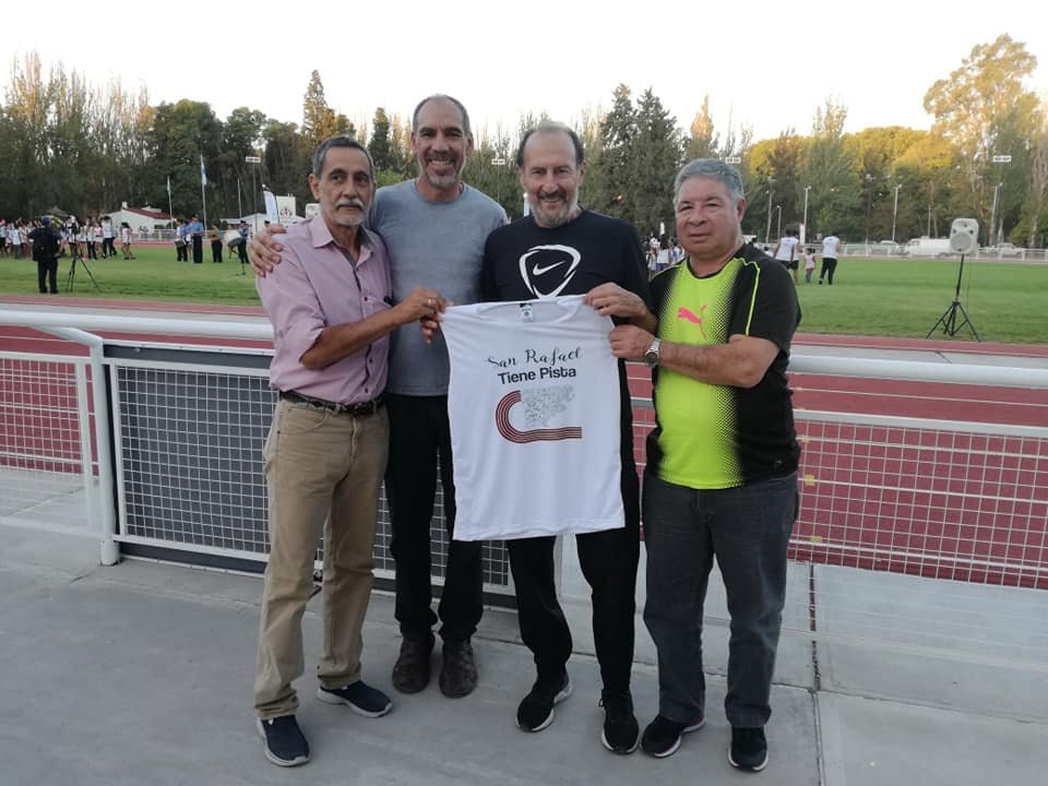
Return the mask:
<path id="1" fill-rule="evenodd" d="M 795 472 L 800 448 L 786 366 L 800 307 L 786 269 L 746 245 L 708 276 L 695 276 L 687 260 L 664 271 L 652 281 L 652 296 L 663 341 L 715 345 L 741 334 L 773 342 L 778 355 L 748 390 L 656 369 L 648 472 L 694 489 L 734 488 Z"/>

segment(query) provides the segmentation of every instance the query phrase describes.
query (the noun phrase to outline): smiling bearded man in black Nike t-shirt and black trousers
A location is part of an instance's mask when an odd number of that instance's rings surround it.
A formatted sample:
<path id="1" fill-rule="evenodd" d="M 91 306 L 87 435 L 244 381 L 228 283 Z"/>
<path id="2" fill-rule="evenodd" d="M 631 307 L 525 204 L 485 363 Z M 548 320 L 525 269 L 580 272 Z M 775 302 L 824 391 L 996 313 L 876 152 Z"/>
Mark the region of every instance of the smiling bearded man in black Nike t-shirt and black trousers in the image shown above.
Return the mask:
<path id="1" fill-rule="evenodd" d="M 484 299 L 585 295 L 588 305 L 612 317 L 617 324 L 654 330 L 636 233 L 624 221 L 579 206 L 579 187 L 585 175 L 583 156 L 577 134 L 560 123 L 545 122 L 525 133 L 516 164 L 531 215 L 488 236 L 481 274 Z M 619 386 L 626 527 L 577 535 L 576 544 L 582 572 L 593 588 L 593 633 L 604 681 L 600 739 L 608 750 L 631 753 L 639 741 L 630 669 L 640 505 L 632 408 L 622 362 Z M 546 728 L 552 722 L 553 705 L 571 693 L 564 668 L 571 655 L 571 631 L 557 599 L 553 543 L 552 537 L 507 541 L 521 636 L 534 653 L 538 671 L 516 713 L 517 726 L 525 731 Z"/>

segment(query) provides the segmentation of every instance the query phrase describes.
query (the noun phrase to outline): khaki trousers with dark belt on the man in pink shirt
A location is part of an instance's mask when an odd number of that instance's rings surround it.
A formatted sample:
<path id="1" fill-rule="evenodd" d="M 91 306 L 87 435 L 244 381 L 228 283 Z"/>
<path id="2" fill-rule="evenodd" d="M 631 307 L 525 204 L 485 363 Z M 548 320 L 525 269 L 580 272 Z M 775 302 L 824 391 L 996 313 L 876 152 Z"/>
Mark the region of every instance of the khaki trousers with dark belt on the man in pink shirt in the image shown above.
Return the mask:
<path id="1" fill-rule="evenodd" d="M 325 688 L 360 679 L 360 628 L 372 583 L 379 487 L 389 452 L 385 408 L 334 415 L 278 401 L 265 442 L 270 563 L 265 570 L 254 708 L 261 718 L 298 707 L 302 614 L 324 538 L 324 638 L 317 676 Z"/>

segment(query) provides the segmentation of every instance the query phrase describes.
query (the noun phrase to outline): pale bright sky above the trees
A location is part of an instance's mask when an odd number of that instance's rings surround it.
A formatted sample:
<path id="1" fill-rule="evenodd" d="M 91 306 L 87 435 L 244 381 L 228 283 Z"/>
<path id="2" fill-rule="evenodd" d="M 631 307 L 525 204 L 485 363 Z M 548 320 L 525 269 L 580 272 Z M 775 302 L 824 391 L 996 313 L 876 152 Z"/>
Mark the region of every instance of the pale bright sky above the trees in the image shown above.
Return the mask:
<path id="1" fill-rule="evenodd" d="M 708 94 L 722 136 L 729 123 L 754 139 L 809 133 L 827 97 L 847 107 L 847 131 L 927 129 L 928 88 L 1001 33 L 1038 59 L 1027 86 L 1048 90 L 1048 25 L 1029 0 L 237 7 L 124 4 L 112 15 L 112 5 L 51 0 L 46 22 L 9 26 L 0 51 L 5 63 L 36 51 L 93 84 L 144 84 L 152 104 L 192 98 L 222 119 L 248 106 L 299 123 L 317 69 L 329 104 L 355 122 L 378 106 L 406 118 L 434 92 L 463 100 L 477 128 L 514 129 L 528 110 L 573 122 L 610 108 L 624 82 L 634 96 L 652 87 L 686 130 Z M 5 88 L 10 70 L 0 81 Z"/>

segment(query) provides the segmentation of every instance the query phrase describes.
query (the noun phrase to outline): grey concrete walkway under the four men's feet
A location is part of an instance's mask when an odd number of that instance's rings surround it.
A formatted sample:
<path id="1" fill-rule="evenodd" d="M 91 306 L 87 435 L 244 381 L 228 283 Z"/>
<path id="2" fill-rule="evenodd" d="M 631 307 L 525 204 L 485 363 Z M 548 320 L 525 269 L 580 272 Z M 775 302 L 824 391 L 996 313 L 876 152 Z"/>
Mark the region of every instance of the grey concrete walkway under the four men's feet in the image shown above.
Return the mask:
<path id="1" fill-rule="evenodd" d="M 150 561 L 97 564 L 91 539 L 0 526 L 0 784 L 1036 784 L 1048 770 L 1048 669 L 981 666 L 784 638 L 765 773 L 727 763 L 720 711 L 726 631 L 706 632 L 708 723 L 665 760 L 608 753 L 587 609 L 565 549 L 564 603 L 576 633 L 573 695 L 552 726 L 517 730 L 533 680 L 515 616 L 488 610 L 475 639 L 480 684 L 461 700 L 436 680 L 390 687 L 400 639 L 386 595 L 372 598 L 365 678 L 395 707 L 367 719 L 315 701 L 320 619 L 305 618 L 300 723 L 313 761 L 281 770 L 251 713 L 261 581 Z M 639 588 L 643 603 L 643 573 Z M 656 712 L 654 648 L 636 620 L 633 695 Z M 439 660 L 434 658 L 434 665 Z"/>

